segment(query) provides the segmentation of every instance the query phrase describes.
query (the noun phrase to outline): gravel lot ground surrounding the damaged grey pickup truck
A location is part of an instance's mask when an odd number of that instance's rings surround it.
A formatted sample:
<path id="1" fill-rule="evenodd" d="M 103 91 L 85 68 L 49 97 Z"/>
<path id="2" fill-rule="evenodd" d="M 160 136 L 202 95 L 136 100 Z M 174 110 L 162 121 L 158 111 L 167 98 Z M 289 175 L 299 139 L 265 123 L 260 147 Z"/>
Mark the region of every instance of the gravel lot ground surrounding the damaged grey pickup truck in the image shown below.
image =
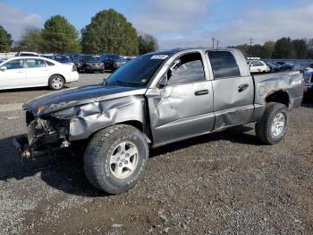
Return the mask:
<path id="1" fill-rule="evenodd" d="M 1 92 L 0 104 L 47 92 Z M 68 152 L 21 161 L 21 110 L 0 111 L 0 126 L 0 234 L 313 234 L 312 103 L 274 146 L 248 125 L 153 150 L 139 185 L 119 196 L 90 187 Z"/>

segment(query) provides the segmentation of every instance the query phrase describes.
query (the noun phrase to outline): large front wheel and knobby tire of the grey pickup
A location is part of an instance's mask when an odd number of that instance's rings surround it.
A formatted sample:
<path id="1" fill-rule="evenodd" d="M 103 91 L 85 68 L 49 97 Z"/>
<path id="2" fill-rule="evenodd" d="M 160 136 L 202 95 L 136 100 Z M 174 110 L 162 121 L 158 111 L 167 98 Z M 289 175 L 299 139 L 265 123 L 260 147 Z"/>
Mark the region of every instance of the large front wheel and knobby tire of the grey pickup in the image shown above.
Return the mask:
<path id="1" fill-rule="evenodd" d="M 84 156 L 84 169 L 94 187 L 116 195 L 136 185 L 147 161 L 148 144 L 140 130 L 116 125 L 100 130 L 91 138 Z"/>

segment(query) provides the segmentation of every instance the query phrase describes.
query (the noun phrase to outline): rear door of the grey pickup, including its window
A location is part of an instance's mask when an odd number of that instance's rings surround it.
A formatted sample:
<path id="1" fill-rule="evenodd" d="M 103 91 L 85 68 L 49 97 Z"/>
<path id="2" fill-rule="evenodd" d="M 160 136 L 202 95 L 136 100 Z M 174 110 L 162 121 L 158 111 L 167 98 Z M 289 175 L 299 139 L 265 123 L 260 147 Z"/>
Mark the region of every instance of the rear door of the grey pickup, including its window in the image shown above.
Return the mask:
<path id="1" fill-rule="evenodd" d="M 241 76 L 231 51 L 207 51 L 214 74 L 214 129 L 249 123 L 254 106 L 252 77 Z"/>

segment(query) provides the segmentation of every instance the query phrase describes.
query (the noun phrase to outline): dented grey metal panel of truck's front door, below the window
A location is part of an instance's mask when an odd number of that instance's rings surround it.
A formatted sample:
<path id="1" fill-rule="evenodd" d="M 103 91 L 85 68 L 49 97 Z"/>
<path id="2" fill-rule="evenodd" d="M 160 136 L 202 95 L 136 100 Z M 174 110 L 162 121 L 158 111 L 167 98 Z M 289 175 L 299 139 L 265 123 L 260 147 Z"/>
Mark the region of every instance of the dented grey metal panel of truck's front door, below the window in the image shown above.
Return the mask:
<path id="1" fill-rule="evenodd" d="M 207 94 L 195 92 L 207 90 Z M 214 126 L 210 81 L 169 85 L 146 93 L 155 145 L 210 132 Z"/>

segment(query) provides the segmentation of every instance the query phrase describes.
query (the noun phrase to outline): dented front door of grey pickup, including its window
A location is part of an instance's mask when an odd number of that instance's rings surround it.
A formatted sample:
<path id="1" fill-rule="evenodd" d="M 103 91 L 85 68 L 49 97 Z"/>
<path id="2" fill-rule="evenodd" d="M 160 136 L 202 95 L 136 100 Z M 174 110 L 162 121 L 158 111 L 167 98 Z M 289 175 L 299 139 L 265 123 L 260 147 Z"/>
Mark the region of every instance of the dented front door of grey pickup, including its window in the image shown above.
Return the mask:
<path id="1" fill-rule="evenodd" d="M 150 125 L 155 145 L 210 132 L 214 126 L 213 92 L 201 54 L 177 58 L 165 73 L 164 87 L 148 89 Z"/>

